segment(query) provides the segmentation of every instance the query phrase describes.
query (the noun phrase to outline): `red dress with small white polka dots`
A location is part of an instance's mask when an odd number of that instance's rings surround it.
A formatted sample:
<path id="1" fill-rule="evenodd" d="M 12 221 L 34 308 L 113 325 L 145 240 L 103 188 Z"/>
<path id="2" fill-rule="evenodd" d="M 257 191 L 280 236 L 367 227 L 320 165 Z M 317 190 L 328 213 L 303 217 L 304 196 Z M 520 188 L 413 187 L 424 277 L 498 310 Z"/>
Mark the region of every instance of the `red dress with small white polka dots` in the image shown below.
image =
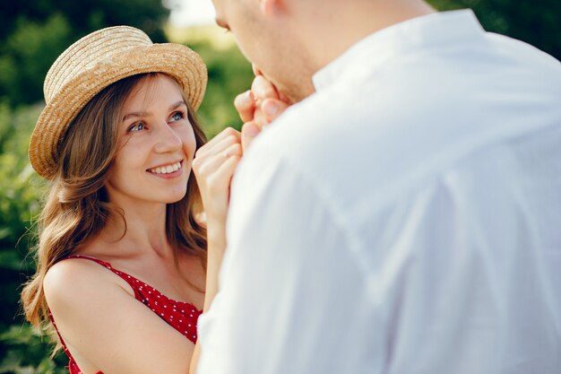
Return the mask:
<path id="1" fill-rule="evenodd" d="M 108 270 L 117 274 L 128 283 L 134 291 L 134 298 L 139 300 L 146 307 L 150 308 L 154 313 L 156 313 L 161 319 L 166 321 L 169 326 L 174 327 L 179 333 L 184 335 L 191 342 L 196 343 L 197 341 L 197 319 L 202 313 L 202 310 L 198 310 L 193 304 L 183 301 L 171 300 L 166 295 L 160 291 L 151 287 L 151 285 L 143 283 L 141 280 L 134 278 L 134 276 L 123 273 L 117 269 L 114 269 L 109 263 L 101 261 L 98 258 L 87 257 L 87 256 L 70 256 L 68 258 L 84 258 L 103 265 L 108 268 Z M 52 315 L 49 317 L 55 326 L 55 319 Z M 68 370 L 71 374 L 82 374 L 80 368 L 74 361 L 72 354 L 66 348 L 65 342 L 62 336 L 58 335 L 60 342 L 63 345 L 63 349 L 69 358 Z M 103 374 L 99 371 L 97 374 Z"/>

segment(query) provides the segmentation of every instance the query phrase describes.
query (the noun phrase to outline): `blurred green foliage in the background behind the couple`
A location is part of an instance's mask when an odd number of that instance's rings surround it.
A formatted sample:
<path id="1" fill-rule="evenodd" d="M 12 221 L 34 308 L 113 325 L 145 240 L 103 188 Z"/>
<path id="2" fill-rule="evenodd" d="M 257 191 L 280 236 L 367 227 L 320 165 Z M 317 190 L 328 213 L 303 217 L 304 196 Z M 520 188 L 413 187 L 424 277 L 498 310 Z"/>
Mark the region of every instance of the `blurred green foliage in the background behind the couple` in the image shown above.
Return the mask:
<path id="1" fill-rule="evenodd" d="M 208 0 L 210 1 L 210 0 Z M 442 10 L 470 7 L 487 30 L 530 42 L 561 58 L 558 0 L 432 0 Z M 65 358 L 23 322 L 21 284 L 32 273 L 34 218 L 44 183 L 30 168 L 27 144 L 42 109 L 48 67 L 74 40 L 99 28 L 129 24 L 156 42 L 168 10 L 160 0 L 21 0 L 0 3 L 0 374 L 63 373 Z M 232 100 L 251 83 L 251 67 L 237 48 L 189 44 L 209 69 L 199 115 L 207 135 L 239 127 Z"/>

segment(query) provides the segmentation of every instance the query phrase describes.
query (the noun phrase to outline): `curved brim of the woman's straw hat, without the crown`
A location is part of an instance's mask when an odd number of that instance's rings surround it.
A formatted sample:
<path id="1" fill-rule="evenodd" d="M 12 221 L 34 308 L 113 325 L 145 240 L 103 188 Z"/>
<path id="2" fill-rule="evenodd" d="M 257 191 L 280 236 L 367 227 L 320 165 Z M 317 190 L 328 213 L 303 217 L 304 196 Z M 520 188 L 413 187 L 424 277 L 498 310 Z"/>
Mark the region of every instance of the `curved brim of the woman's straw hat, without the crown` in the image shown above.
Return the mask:
<path id="1" fill-rule="evenodd" d="M 193 50 L 171 43 L 131 48 L 77 74 L 48 102 L 30 139 L 33 169 L 43 178 L 53 178 L 60 143 L 80 110 L 110 84 L 145 73 L 170 75 L 181 85 L 193 109 L 201 105 L 207 71 L 203 60 Z"/>

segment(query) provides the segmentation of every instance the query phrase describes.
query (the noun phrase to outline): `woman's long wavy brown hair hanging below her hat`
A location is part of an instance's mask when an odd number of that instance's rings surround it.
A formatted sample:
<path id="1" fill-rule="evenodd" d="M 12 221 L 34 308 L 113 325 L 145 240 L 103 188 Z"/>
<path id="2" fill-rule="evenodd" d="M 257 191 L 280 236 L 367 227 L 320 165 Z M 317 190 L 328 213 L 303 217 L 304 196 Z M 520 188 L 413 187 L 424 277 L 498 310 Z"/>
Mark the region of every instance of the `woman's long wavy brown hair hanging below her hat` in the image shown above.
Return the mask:
<path id="1" fill-rule="evenodd" d="M 73 119 L 59 146 L 58 169 L 39 215 L 39 242 L 33 248 L 37 272 L 22 290 L 25 317 L 53 337 L 56 334 L 48 317 L 43 279 L 52 265 L 99 234 L 110 217 L 117 214 L 125 220 L 109 203 L 104 187 L 119 150 L 119 114 L 134 88 L 158 74 L 127 77 L 99 92 Z M 183 96 L 198 149 L 206 138 L 186 95 Z M 196 220 L 201 211 L 201 196 L 191 173 L 186 196 L 168 204 L 166 213 L 166 234 L 174 248 L 176 265 L 177 254 L 184 252 L 199 257 L 206 267 L 206 230 Z"/>

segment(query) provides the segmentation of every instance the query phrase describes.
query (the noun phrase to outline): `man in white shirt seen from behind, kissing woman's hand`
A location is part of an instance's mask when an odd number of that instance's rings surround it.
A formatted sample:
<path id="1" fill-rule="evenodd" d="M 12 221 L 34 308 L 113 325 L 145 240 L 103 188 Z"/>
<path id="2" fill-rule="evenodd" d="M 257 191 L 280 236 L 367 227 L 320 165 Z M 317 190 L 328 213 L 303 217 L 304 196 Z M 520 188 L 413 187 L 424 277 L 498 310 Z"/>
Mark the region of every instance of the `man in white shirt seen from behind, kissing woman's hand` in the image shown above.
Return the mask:
<path id="1" fill-rule="evenodd" d="M 295 104 L 234 178 L 198 373 L 561 372 L 559 62 L 420 0 L 213 2 Z"/>

